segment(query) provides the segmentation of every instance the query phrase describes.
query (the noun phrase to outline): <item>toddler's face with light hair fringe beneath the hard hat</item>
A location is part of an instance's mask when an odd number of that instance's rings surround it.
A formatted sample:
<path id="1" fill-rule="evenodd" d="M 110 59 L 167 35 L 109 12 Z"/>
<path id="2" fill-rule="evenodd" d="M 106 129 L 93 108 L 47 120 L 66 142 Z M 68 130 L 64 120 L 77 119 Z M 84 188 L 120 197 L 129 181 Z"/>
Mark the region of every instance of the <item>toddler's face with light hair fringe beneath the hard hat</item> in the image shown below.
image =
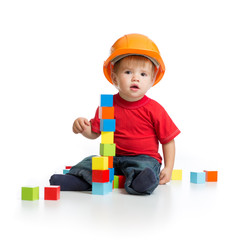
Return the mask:
<path id="1" fill-rule="evenodd" d="M 150 61 L 139 64 L 137 61 L 123 58 L 111 77 L 123 99 L 130 102 L 138 101 L 153 85 L 153 64 Z"/>

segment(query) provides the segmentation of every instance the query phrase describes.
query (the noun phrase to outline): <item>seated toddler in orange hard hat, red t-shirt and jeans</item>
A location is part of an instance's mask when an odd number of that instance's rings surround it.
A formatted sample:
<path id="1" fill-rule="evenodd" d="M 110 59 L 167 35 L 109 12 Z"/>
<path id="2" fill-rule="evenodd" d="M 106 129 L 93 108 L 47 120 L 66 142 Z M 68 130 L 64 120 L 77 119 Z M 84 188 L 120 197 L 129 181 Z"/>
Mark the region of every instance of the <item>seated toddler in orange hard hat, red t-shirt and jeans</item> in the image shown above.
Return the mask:
<path id="1" fill-rule="evenodd" d="M 146 92 L 163 77 L 164 63 L 157 46 L 146 36 L 129 34 L 118 39 L 104 63 L 104 74 L 118 90 L 114 95 L 116 131 L 116 175 L 125 175 L 125 189 L 130 194 L 151 194 L 158 184 L 170 181 L 175 159 L 174 138 L 180 133 L 164 108 L 148 98 Z M 100 136 L 98 109 L 88 121 L 77 118 L 73 132 L 89 139 Z M 160 172 L 162 157 L 164 169 Z M 69 171 L 55 174 L 51 185 L 62 191 L 90 190 L 91 158 L 87 157 Z"/>

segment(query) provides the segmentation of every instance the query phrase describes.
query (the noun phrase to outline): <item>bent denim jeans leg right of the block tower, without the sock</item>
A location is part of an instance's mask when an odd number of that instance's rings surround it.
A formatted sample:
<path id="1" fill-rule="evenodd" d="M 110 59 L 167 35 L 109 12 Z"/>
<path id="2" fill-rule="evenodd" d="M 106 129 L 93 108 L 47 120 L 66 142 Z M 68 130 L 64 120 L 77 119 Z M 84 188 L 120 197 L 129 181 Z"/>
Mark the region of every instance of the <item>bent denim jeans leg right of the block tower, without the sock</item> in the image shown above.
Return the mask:
<path id="1" fill-rule="evenodd" d="M 159 175 L 161 164 L 154 158 L 147 155 L 139 155 L 134 157 L 117 157 L 120 169 L 126 176 L 125 189 L 130 194 L 145 195 L 151 194 L 159 184 Z M 143 193 L 136 192 L 131 184 L 133 179 L 145 168 L 150 168 L 155 173 L 157 181 L 155 184 Z"/>

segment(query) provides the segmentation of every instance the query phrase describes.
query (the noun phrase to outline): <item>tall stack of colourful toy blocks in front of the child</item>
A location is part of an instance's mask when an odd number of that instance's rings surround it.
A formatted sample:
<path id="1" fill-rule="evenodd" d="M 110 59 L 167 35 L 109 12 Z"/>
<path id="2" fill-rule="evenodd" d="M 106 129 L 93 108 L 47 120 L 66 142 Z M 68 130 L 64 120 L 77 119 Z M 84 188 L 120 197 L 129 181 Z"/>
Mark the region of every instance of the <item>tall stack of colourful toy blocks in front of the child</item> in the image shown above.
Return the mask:
<path id="1" fill-rule="evenodd" d="M 92 158 L 92 194 L 104 195 L 112 191 L 114 180 L 113 157 L 115 119 L 113 95 L 101 95 L 99 107 L 101 143 L 100 156 Z"/>

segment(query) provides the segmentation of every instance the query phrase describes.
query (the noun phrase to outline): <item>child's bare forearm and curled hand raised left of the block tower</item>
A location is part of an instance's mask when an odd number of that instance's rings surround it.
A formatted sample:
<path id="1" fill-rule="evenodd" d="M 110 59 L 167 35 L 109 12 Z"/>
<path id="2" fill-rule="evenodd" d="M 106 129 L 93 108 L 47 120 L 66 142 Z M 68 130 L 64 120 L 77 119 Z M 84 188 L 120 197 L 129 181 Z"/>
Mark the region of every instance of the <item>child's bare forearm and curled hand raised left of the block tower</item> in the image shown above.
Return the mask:
<path id="1" fill-rule="evenodd" d="M 96 139 L 100 136 L 100 133 L 95 133 L 91 130 L 91 123 L 86 118 L 77 118 L 72 126 L 74 133 L 81 133 L 84 137 L 89 139 Z"/>

